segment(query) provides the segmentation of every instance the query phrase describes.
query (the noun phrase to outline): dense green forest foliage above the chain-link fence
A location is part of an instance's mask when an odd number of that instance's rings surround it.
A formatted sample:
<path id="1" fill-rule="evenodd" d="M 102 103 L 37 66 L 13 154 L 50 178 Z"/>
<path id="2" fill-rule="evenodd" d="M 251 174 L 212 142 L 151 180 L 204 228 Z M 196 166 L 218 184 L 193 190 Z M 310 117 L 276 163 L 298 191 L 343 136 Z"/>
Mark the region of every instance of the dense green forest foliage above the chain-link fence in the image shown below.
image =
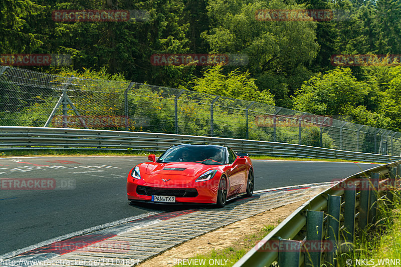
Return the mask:
<path id="1" fill-rule="evenodd" d="M 263 21 L 258 10 L 332 10 L 329 21 Z M 292 108 L 401 130 L 401 67 L 333 55 L 401 54 L 401 0 L 4 0 L 0 54 L 69 54 L 69 69 Z M 146 20 L 57 22 L 55 10 L 138 10 Z M 155 54 L 246 55 L 240 66 L 155 66 Z"/>

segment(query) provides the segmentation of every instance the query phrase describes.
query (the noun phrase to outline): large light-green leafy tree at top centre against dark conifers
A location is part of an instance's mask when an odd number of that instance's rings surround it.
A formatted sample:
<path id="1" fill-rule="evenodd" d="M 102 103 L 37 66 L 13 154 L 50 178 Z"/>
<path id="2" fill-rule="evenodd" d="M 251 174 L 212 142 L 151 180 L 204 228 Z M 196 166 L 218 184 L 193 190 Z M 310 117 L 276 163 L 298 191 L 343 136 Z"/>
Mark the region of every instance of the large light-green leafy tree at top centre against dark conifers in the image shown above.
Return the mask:
<path id="1" fill-rule="evenodd" d="M 316 56 L 316 23 L 313 21 L 263 21 L 256 11 L 301 9 L 274 1 L 209 2 L 210 30 L 203 33 L 212 53 L 245 54 L 249 69 L 261 89 L 270 89 L 276 102 L 289 106 L 288 96 L 313 75 L 305 68 Z"/>

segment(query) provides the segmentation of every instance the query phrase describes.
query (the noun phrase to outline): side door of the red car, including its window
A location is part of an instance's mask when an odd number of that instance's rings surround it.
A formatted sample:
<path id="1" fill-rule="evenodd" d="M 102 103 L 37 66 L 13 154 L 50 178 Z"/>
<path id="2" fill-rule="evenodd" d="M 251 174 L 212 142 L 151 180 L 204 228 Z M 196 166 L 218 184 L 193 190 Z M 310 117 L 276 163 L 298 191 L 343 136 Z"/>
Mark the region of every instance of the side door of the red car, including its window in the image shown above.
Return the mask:
<path id="1" fill-rule="evenodd" d="M 230 166 L 229 170 L 229 193 L 228 196 L 238 194 L 244 184 L 246 177 L 246 166 L 243 164 L 237 164 L 237 154 L 229 147 L 228 148 Z"/>

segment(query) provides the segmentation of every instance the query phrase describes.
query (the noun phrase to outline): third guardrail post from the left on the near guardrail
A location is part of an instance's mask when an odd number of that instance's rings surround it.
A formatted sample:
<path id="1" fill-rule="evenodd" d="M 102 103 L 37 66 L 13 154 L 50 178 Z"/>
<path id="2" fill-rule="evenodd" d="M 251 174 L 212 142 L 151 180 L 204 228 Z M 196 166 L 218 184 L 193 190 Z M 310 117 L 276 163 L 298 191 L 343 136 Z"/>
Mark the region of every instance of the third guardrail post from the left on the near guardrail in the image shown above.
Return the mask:
<path id="1" fill-rule="evenodd" d="M 332 251 L 326 251 L 328 266 L 337 266 L 337 247 L 340 235 L 341 196 L 328 195 L 327 206 L 327 241 L 332 244 Z M 320 265 L 319 265 L 320 266 Z"/>

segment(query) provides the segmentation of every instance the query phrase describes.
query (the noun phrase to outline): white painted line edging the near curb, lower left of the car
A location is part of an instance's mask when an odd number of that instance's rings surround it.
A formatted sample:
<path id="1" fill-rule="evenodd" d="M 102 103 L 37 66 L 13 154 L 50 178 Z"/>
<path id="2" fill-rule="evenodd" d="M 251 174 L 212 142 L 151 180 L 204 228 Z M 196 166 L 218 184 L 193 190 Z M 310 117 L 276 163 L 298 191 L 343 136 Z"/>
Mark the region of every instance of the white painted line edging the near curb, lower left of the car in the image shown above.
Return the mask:
<path id="1" fill-rule="evenodd" d="M 90 228 L 87 228 L 87 229 L 84 229 L 84 230 L 80 230 L 80 231 L 76 231 L 76 232 L 73 232 L 73 233 L 68 233 L 68 234 L 65 234 L 65 235 L 61 235 L 61 236 L 58 236 L 58 237 L 55 237 L 55 238 L 52 238 L 52 239 L 48 239 L 46 241 L 42 241 L 42 242 L 34 244 L 34 245 L 26 246 L 26 247 L 23 247 L 23 248 L 8 252 L 6 254 L 0 255 L 0 260 L 11 258 L 11 257 L 17 256 L 17 255 L 19 255 L 21 253 L 27 252 L 29 250 L 33 250 L 33 249 L 36 249 L 36 248 L 39 248 L 39 247 L 42 247 L 42 246 L 45 246 L 45 245 L 49 245 L 49 244 L 54 243 L 54 242 L 63 241 L 63 240 L 70 239 L 70 238 L 73 238 L 73 237 L 78 236 L 78 235 L 84 235 L 84 234 L 87 234 L 87 233 L 90 233 L 90 232 L 94 232 L 94 231 L 98 231 L 98 230 L 103 230 L 105 228 L 110 228 L 110 227 L 118 225 L 118 224 L 122 224 L 122 223 L 129 222 L 129 221 L 136 220 L 136 219 L 146 218 L 146 217 L 149 217 L 151 215 L 156 215 L 156 214 L 159 214 L 159 213 L 160 212 L 151 211 L 151 212 L 147 212 L 147 213 L 140 214 L 140 215 L 137 215 L 137 216 L 127 217 L 127 218 L 124 218 L 124 219 L 120 219 L 120 220 L 104 223 L 104 224 L 101 224 L 101 225 L 93 226 L 93 227 L 90 227 Z"/>

